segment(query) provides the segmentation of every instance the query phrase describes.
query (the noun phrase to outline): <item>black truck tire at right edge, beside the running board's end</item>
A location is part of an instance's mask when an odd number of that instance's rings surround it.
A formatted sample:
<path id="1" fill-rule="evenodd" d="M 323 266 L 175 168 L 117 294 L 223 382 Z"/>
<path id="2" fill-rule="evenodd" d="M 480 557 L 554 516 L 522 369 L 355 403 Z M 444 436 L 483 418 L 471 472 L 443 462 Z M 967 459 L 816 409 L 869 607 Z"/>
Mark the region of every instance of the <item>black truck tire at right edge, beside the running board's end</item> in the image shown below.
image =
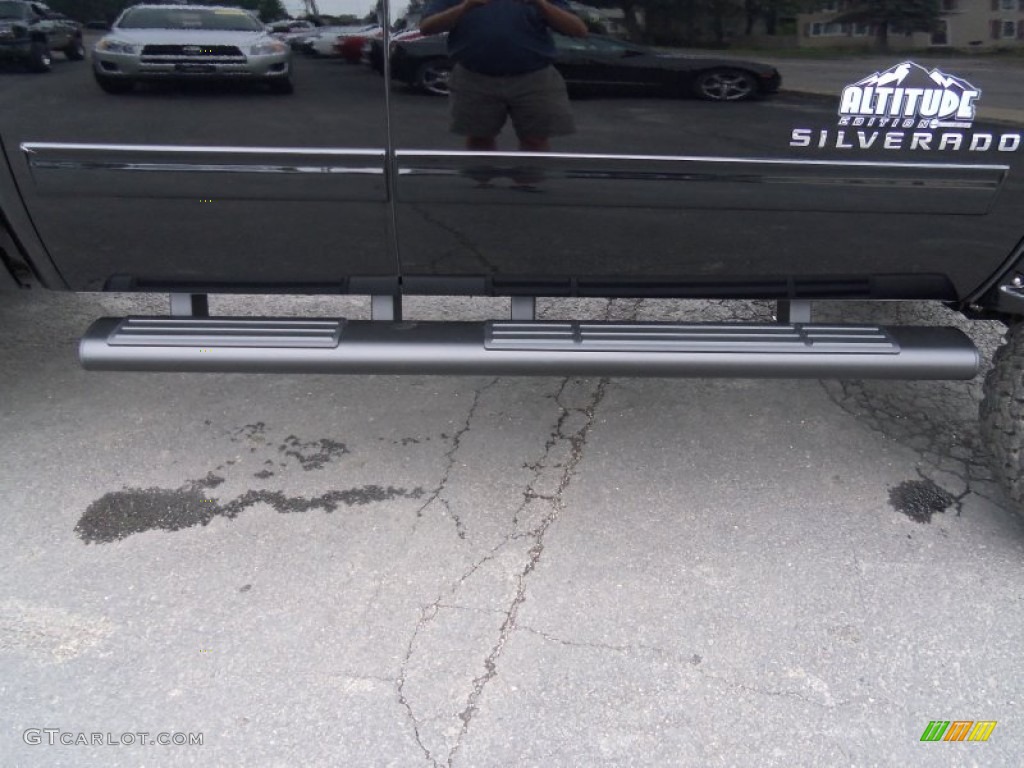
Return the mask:
<path id="1" fill-rule="evenodd" d="M 981 435 L 996 478 L 1011 499 L 1024 505 L 1024 323 L 1010 328 L 992 357 L 981 401 Z"/>

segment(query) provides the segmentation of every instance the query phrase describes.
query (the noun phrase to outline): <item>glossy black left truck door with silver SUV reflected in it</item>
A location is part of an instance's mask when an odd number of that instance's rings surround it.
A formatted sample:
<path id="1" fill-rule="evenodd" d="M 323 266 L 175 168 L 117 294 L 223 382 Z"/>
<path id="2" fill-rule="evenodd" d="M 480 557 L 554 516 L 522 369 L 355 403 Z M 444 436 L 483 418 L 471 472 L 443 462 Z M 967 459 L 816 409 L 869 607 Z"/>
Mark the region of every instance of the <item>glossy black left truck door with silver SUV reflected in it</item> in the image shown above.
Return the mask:
<path id="1" fill-rule="evenodd" d="M 346 8 L 361 22 L 375 2 Z M 49 72 L 0 72 L 4 160 L 63 283 L 395 284 L 383 80 L 290 50 L 246 11 L 142 10 L 105 35 L 86 30 L 84 61 L 53 51 Z"/>

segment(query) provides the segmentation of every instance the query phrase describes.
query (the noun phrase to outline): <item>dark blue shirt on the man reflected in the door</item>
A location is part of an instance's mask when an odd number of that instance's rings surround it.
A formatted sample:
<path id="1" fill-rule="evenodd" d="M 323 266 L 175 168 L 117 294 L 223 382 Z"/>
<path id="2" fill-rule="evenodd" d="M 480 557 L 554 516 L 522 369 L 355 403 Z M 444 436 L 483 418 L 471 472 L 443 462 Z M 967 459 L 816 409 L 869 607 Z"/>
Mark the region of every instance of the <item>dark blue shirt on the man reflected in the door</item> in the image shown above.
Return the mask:
<path id="1" fill-rule="evenodd" d="M 433 0 L 423 17 L 462 0 Z M 549 0 L 568 10 L 564 0 Z M 480 75 L 524 75 L 555 60 L 555 41 L 537 6 L 524 0 L 488 0 L 467 11 L 449 33 L 449 55 Z"/>

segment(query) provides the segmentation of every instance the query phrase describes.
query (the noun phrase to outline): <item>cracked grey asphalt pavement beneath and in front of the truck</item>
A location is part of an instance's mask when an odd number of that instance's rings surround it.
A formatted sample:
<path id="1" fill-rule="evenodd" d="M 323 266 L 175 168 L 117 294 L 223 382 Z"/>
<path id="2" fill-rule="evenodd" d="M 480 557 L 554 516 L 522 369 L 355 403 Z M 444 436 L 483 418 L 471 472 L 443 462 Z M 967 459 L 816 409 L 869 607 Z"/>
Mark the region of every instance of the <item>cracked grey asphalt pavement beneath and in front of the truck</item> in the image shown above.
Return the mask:
<path id="1" fill-rule="evenodd" d="M 165 311 L 0 305 L 4 766 L 1020 765 L 1024 524 L 985 467 L 980 378 L 78 367 L 92 318 Z M 1001 334 L 934 305 L 881 311 L 815 318 L 959 323 L 986 356 Z M 984 743 L 921 742 L 937 719 L 998 724 Z M 44 728 L 56 743 L 27 743 Z M 203 743 L 60 743 L 139 732 Z"/>

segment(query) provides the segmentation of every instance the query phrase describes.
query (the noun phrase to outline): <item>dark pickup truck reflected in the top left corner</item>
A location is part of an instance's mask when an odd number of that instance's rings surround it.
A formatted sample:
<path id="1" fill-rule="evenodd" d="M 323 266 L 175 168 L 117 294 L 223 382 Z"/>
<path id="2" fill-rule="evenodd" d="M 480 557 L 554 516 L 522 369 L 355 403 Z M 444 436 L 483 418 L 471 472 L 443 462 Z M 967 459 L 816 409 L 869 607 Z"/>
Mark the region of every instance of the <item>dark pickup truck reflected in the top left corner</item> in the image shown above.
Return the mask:
<path id="1" fill-rule="evenodd" d="M 49 72 L 55 50 L 73 61 L 85 58 L 82 26 L 43 3 L 0 0 L 0 59 Z"/>

